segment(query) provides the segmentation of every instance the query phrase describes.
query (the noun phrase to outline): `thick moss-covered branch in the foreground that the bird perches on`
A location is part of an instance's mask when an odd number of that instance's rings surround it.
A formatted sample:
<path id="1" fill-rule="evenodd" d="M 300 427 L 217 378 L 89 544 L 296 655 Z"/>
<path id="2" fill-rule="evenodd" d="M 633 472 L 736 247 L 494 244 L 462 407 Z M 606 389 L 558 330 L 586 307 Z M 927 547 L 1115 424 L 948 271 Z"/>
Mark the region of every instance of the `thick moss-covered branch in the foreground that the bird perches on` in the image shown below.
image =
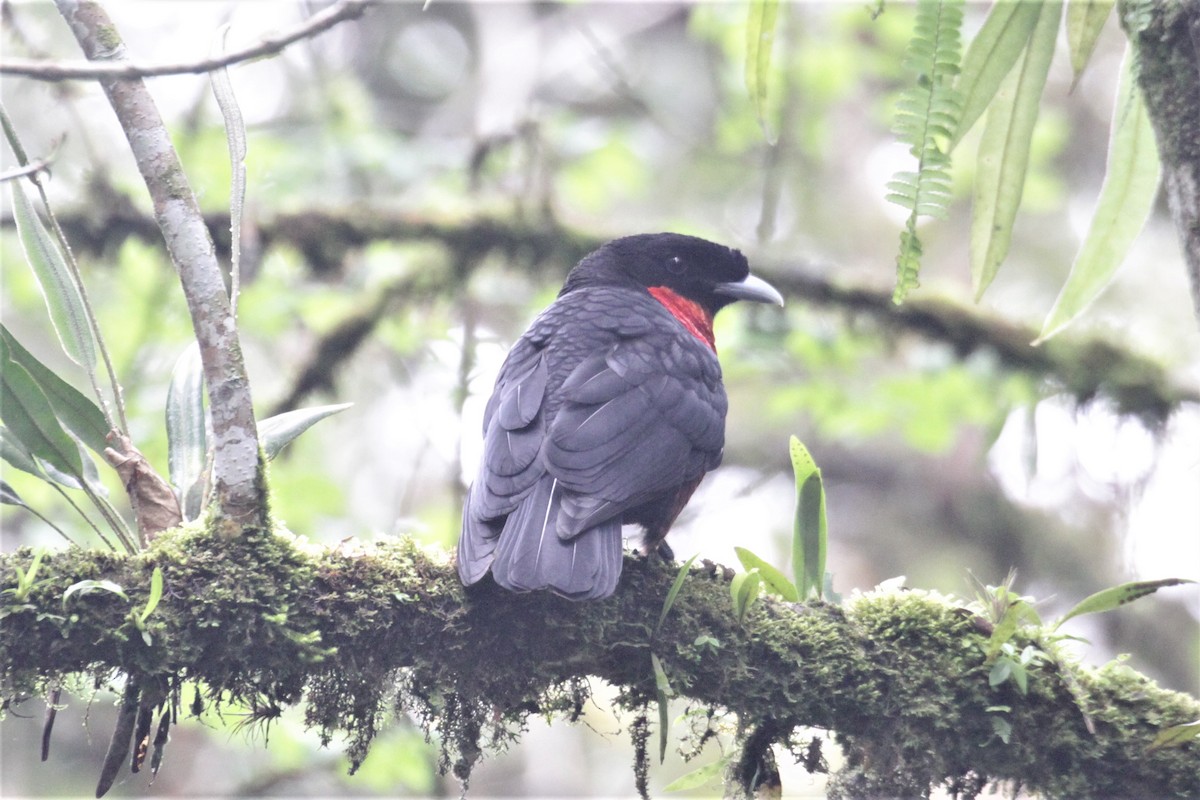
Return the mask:
<path id="1" fill-rule="evenodd" d="M 13 587 L 30 561 L 28 551 L 0 557 L 0 585 Z M 130 612 L 145 602 L 154 566 L 166 594 L 134 630 Z M 197 680 L 257 709 L 305 703 L 324 735 L 349 733 L 354 763 L 400 708 L 439 734 L 445 764 L 467 776 L 488 740 L 516 735 L 530 714 L 577 714 L 589 676 L 644 708 L 653 651 L 679 694 L 737 714 L 743 730 L 788 746 L 800 727 L 833 732 L 847 752 L 839 796 L 924 795 L 937 784 L 971 794 L 988 781 L 1046 796 L 1200 793 L 1196 742 L 1150 750 L 1163 727 L 1200 717 L 1195 698 L 1126 667 L 1075 666 L 1037 636 L 1052 657 L 1031 669 L 1028 693 L 990 687 L 986 626 L 926 593 L 841 607 L 764 600 L 742 625 L 726 571 L 706 564 L 655 634 L 674 577 L 661 564 L 626 559 L 612 599 L 571 603 L 491 584 L 467 591 L 409 541 L 299 549 L 262 531 L 169 533 L 131 557 L 68 551 L 44 558 L 38 575 L 19 602 L 0 601 L 6 704 L 70 673 Z M 84 579 L 113 581 L 128 601 L 97 591 L 64 604 Z M 1008 742 L 996 706 L 1010 708 Z"/>

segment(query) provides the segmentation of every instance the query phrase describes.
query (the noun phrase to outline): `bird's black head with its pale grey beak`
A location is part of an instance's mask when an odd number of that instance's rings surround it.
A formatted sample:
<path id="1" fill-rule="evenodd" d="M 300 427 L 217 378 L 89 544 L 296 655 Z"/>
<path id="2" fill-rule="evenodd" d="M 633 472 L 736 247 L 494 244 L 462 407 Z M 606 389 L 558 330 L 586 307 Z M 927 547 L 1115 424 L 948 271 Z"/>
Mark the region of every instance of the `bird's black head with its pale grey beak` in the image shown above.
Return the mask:
<path id="1" fill-rule="evenodd" d="M 784 305 L 769 283 L 750 275 L 740 251 L 671 233 L 612 240 L 571 270 L 559 294 L 589 285 L 631 285 L 655 296 L 654 289 L 670 290 L 701 306 L 709 320 L 734 300 Z"/>

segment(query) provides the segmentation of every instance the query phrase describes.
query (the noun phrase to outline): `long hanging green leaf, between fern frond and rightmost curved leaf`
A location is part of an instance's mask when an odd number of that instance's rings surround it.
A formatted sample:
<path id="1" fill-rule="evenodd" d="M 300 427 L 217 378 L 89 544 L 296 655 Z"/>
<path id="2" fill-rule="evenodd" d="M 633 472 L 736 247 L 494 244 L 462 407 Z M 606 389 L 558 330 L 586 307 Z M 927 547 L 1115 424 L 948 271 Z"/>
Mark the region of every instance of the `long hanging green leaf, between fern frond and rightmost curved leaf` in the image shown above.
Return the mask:
<path id="1" fill-rule="evenodd" d="M 971 219 L 971 281 L 976 300 L 983 296 L 1008 255 L 1061 17 L 1058 0 L 1042 4 L 1028 47 L 988 109 L 979 140 Z"/>

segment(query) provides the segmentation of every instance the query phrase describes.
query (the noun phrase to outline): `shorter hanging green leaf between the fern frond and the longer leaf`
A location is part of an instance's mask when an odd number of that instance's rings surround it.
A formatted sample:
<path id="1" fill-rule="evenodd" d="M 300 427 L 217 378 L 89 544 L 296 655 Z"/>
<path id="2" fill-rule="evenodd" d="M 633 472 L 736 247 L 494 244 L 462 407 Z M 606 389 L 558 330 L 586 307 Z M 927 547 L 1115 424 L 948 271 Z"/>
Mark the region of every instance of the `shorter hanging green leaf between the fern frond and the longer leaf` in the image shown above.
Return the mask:
<path id="1" fill-rule="evenodd" d="M 962 97 L 962 113 L 950 137 L 948 150 L 966 136 L 986 110 L 1004 77 L 1013 71 L 1038 22 L 1038 2 L 997 2 L 988 12 L 983 28 L 962 55 L 962 70 L 955 88 Z"/>

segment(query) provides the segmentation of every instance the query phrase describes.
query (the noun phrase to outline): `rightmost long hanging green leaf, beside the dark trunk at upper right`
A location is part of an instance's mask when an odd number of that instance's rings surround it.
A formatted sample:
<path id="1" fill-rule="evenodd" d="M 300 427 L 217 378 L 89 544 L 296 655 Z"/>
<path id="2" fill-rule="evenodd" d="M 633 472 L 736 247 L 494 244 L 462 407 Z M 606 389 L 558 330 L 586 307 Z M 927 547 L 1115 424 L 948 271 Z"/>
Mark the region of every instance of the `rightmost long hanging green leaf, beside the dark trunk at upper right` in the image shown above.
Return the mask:
<path id="1" fill-rule="evenodd" d="M 1067 327 L 1112 282 L 1121 261 L 1154 209 L 1158 145 L 1141 91 L 1133 80 L 1133 50 L 1126 52 L 1109 138 L 1109 164 L 1092 224 L 1075 255 L 1038 342 Z"/>

